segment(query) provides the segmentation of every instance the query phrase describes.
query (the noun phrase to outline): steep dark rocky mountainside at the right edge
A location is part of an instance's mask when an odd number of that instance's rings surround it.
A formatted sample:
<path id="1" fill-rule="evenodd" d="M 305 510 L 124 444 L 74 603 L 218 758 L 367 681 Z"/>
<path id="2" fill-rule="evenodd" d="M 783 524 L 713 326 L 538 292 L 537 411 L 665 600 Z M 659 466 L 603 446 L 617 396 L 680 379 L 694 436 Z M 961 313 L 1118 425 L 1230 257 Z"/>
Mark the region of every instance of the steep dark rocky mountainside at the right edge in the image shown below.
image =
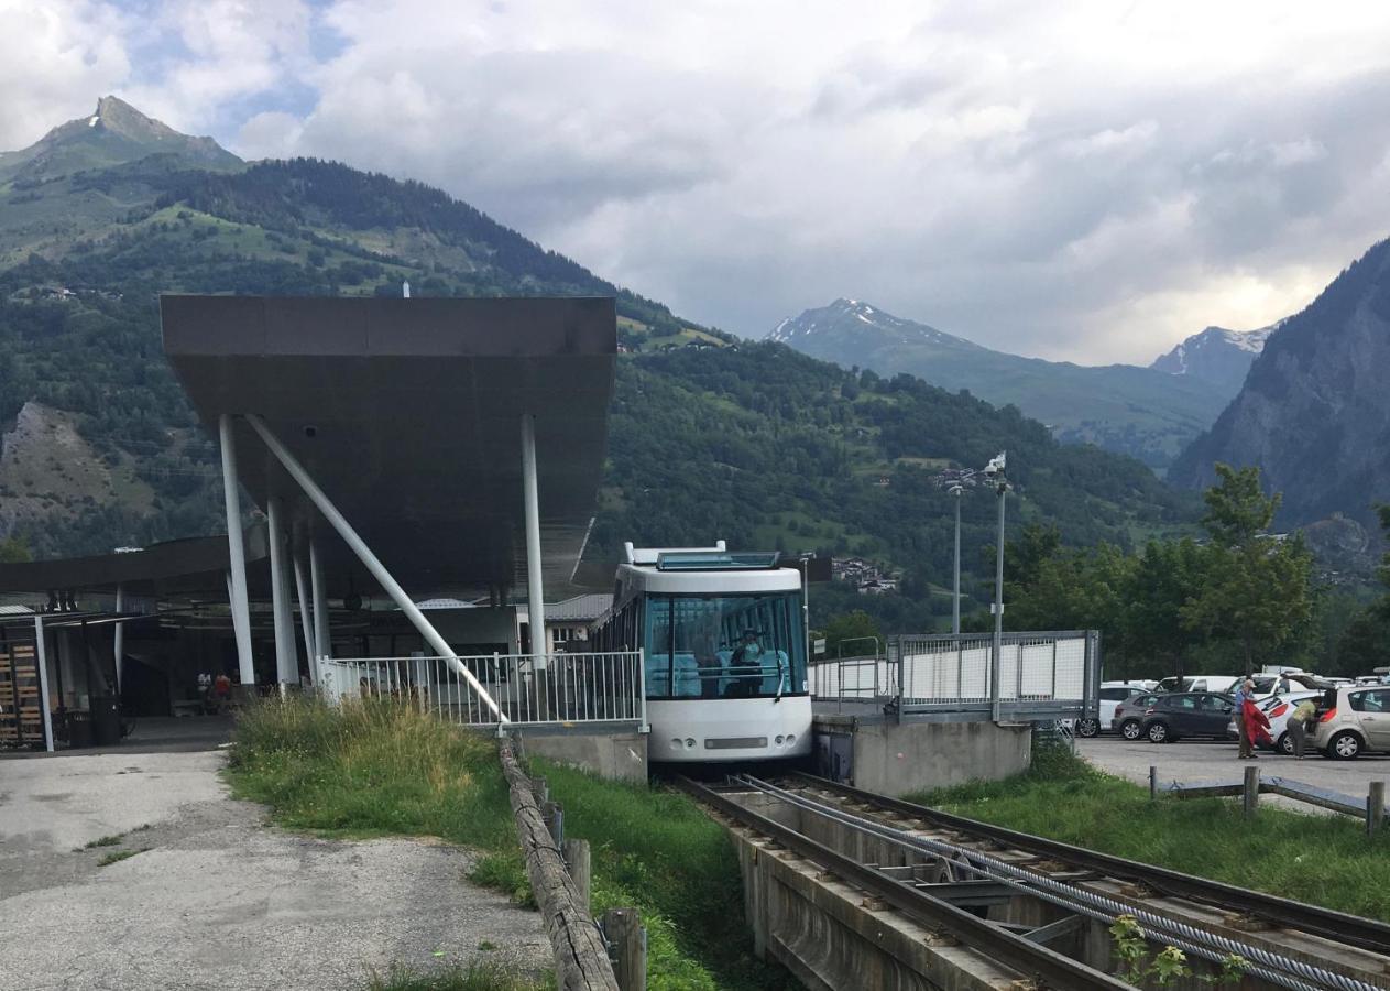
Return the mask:
<path id="1" fill-rule="evenodd" d="M 1211 431 L 1173 463 L 1200 488 L 1212 463 L 1258 464 L 1284 493 L 1283 525 L 1344 513 L 1376 532 L 1390 500 L 1390 240 L 1368 250 L 1289 317 Z"/>

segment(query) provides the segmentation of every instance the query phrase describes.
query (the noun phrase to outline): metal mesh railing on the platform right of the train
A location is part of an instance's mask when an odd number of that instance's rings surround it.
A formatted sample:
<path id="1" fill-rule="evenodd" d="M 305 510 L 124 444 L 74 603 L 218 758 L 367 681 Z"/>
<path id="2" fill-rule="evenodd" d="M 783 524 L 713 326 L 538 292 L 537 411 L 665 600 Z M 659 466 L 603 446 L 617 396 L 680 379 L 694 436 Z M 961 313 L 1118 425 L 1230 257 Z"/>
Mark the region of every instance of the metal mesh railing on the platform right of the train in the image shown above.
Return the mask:
<path id="1" fill-rule="evenodd" d="M 887 656 L 812 664 L 812 698 L 877 702 L 895 709 L 899 717 L 988 713 L 995 702 L 1012 719 L 1097 710 L 1097 631 L 1004 634 L 998 685 L 991 678 L 992 653 L 990 634 L 905 634 L 891 638 Z"/>

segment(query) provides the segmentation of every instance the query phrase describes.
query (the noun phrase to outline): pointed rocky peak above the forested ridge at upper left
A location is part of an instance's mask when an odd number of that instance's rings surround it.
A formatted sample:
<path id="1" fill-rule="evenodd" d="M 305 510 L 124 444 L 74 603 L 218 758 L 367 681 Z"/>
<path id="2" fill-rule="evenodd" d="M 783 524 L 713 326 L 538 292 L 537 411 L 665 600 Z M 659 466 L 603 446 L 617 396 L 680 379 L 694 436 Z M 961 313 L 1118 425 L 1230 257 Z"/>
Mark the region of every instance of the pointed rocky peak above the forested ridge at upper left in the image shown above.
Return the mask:
<path id="1" fill-rule="evenodd" d="M 72 172 L 167 154 L 188 165 L 234 168 L 242 160 L 211 138 L 190 138 L 114 96 L 89 117 L 68 121 L 21 151 L 0 154 L 0 181 L 38 183 Z"/>

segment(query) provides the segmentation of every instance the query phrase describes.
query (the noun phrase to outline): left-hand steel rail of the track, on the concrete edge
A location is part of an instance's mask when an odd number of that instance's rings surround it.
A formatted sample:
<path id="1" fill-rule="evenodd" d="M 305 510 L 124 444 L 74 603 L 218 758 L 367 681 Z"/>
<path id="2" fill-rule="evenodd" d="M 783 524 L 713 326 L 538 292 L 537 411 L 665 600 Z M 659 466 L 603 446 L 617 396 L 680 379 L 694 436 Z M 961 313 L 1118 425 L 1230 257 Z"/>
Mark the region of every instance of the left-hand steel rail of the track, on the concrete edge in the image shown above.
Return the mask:
<path id="1" fill-rule="evenodd" d="M 787 849 L 809 860 L 815 860 L 823 869 L 880 898 L 887 905 L 892 905 L 905 915 L 931 927 L 949 931 L 965 945 L 980 951 L 987 959 L 1009 970 L 1015 970 L 1023 977 L 1038 981 L 1040 987 L 1056 988 L 1058 991 L 1115 991 L 1116 988 L 1131 988 L 1130 984 L 1118 977 L 1079 963 L 1054 949 L 1048 949 L 1041 944 L 988 923 L 949 902 L 895 881 L 873 867 L 865 866 L 844 853 L 803 837 L 767 816 L 741 806 L 738 802 L 720 795 L 706 785 L 684 777 L 677 778 L 677 785 L 705 805 L 717 809 L 742 826 L 770 837 Z"/>

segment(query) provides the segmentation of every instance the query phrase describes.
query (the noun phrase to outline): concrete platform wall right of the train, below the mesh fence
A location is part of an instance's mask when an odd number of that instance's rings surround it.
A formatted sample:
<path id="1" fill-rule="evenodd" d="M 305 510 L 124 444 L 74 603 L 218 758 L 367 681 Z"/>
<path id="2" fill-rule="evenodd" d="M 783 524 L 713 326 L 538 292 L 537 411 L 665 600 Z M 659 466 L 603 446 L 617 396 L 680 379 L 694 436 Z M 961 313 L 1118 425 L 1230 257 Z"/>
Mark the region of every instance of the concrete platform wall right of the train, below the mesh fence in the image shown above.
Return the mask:
<path id="1" fill-rule="evenodd" d="M 816 716 L 817 737 L 848 762 L 841 778 L 880 795 L 905 795 L 972 780 L 997 780 L 1029 769 L 1033 728 L 995 723 L 866 723 L 847 716 Z M 842 737 L 844 739 L 834 739 Z M 845 766 L 848 763 L 848 767 Z M 831 767 L 821 767 L 835 777 Z"/>

